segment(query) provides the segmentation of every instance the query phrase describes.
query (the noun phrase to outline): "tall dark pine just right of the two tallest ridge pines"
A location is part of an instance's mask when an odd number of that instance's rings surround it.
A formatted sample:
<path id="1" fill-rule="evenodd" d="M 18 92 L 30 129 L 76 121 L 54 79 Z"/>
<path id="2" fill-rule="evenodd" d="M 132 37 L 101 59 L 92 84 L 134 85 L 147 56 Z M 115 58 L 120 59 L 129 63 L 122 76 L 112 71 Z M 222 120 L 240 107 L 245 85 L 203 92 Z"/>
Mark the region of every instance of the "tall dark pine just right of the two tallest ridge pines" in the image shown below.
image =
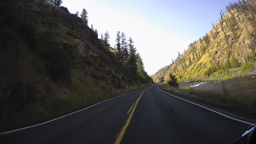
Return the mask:
<path id="1" fill-rule="evenodd" d="M 132 75 L 135 76 L 136 72 L 137 72 L 137 56 L 136 56 L 136 48 L 134 48 L 133 45 L 133 40 L 132 38 L 129 38 L 129 48 L 130 48 L 130 52 L 129 52 L 129 57 L 128 57 L 128 66 L 129 69 L 132 72 Z"/>

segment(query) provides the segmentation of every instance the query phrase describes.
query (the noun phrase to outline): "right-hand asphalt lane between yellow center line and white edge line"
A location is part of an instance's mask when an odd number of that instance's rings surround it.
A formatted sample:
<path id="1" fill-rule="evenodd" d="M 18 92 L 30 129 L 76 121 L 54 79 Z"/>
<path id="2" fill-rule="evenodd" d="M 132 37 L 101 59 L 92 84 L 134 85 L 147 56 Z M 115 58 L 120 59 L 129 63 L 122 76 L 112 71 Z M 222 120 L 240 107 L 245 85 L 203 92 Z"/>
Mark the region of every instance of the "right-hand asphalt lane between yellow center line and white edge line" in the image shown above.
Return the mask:
<path id="1" fill-rule="evenodd" d="M 156 85 L 144 92 L 121 143 L 232 144 L 248 126 L 172 97 Z"/>

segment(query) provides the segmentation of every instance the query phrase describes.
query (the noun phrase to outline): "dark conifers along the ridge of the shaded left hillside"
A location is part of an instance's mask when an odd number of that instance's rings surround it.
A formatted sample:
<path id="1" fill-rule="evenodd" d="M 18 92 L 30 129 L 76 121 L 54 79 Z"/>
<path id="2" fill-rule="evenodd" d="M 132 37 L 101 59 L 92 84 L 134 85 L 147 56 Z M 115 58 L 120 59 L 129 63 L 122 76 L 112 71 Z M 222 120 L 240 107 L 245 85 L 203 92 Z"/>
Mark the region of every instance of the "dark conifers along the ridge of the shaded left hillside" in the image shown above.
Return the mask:
<path id="1" fill-rule="evenodd" d="M 52 3 L 56 6 L 60 6 L 62 4 L 62 0 L 46 0 L 46 2 Z M 73 15 L 78 16 L 78 11 Z M 82 22 L 86 26 L 88 26 L 88 12 L 86 9 L 82 9 L 80 18 L 82 19 Z M 92 24 L 91 29 L 98 38 L 98 31 L 97 29 L 94 30 Z M 110 35 L 108 31 L 106 31 L 104 35 L 101 33 L 100 40 L 102 41 L 102 45 L 105 48 L 110 47 L 109 38 Z M 115 56 L 117 60 L 120 62 L 120 64 L 122 64 L 124 68 L 128 71 L 128 74 L 130 74 L 133 78 L 140 78 L 141 82 L 147 82 L 148 79 L 150 79 L 150 77 L 145 72 L 142 58 L 140 54 L 137 52 L 133 43 L 134 41 L 132 40 L 131 37 L 128 40 L 126 40 L 125 33 L 118 31 L 116 33 L 116 44 L 114 46 L 114 49 L 116 50 Z"/>

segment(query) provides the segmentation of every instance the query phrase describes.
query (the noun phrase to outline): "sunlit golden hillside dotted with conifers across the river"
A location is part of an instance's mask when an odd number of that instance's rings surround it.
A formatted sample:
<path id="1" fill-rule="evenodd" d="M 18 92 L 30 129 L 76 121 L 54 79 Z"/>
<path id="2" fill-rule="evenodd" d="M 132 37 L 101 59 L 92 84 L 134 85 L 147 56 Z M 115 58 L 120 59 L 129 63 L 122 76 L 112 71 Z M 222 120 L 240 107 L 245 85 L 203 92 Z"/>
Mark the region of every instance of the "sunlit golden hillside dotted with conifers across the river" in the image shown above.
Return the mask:
<path id="1" fill-rule="evenodd" d="M 256 74 L 256 1 L 230 3 L 212 30 L 191 43 L 170 67 L 179 82 L 226 80 Z M 152 76 L 155 82 L 159 74 Z"/>

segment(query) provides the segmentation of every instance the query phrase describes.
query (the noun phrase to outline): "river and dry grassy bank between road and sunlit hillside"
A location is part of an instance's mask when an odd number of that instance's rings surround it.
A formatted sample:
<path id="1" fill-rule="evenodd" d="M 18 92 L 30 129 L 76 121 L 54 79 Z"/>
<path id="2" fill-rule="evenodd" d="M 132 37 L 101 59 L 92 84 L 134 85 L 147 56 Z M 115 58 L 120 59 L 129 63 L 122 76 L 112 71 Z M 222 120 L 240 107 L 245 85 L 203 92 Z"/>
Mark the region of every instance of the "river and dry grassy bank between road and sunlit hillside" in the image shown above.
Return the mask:
<path id="1" fill-rule="evenodd" d="M 229 115 L 256 122 L 256 76 L 180 84 L 180 88 L 162 84 L 160 88 Z"/>

